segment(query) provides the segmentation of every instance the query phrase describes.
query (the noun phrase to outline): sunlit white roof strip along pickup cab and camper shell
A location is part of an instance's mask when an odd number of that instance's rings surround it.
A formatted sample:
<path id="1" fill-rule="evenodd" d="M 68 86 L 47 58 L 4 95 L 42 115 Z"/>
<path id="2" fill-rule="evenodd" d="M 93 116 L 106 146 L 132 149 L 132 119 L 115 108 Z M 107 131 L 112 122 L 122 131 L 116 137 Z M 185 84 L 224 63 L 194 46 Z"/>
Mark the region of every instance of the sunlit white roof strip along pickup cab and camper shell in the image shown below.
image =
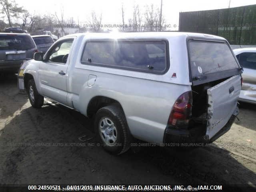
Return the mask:
<path id="1" fill-rule="evenodd" d="M 215 40 L 226 40 L 220 36 L 202 34 L 202 33 L 189 33 L 189 32 L 110 32 L 110 33 L 76 33 L 64 36 L 66 37 L 80 37 L 86 36 L 86 38 L 98 38 L 98 39 L 126 39 L 126 38 L 170 38 L 170 37 L 198 37 L 208 38 Z M 60 38 L 60 39 L 62 39 Z"/>

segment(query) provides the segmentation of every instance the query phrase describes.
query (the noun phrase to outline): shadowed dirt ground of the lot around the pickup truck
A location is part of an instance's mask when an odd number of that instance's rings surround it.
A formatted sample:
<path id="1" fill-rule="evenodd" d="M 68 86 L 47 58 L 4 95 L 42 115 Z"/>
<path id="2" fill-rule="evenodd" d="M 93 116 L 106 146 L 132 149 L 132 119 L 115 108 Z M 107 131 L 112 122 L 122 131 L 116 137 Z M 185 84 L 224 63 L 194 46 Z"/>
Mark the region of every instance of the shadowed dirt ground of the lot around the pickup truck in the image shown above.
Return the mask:
<path id="1" fill-rule="evenodd" d="M 0 77 L 1 184 L 229 184 L 256 188 L 256 106 L 212 145 L 112 156 L 91 139 L 92 120 L 59 104 L 31 107 L 16 76 Z M 81 144 L 80 146 L 78 144 Z M 82 146 L 84 145 L 84 146 Z"/>

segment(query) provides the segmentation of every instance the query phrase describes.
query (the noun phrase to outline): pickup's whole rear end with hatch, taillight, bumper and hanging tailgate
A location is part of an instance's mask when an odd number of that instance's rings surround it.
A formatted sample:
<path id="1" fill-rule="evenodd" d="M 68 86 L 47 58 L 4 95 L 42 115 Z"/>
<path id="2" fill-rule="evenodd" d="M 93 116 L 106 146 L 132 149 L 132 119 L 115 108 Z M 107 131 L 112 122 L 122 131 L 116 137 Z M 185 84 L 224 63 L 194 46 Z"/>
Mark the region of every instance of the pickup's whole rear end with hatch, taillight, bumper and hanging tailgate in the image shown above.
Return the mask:
<path id="1" fill-rule="evenodd" d="M 239 113 L 240 67 L 226 40 L 188 38 L 191 91 L 170 112 L 165 143 L 210 143 L 226 133 Z"/>

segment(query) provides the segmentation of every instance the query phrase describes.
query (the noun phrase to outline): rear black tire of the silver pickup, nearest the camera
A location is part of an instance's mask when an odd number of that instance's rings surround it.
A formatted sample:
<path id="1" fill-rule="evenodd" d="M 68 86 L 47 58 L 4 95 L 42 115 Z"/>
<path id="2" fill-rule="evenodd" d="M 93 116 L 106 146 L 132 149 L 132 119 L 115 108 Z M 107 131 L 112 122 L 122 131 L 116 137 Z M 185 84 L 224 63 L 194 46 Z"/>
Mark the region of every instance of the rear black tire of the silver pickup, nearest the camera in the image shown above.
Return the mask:
<path id="1" fill-rule="evenodd" d="M 112 129 L 112 135 L 107 135 L 110 138 L 109 139 L 110 141 L 111 141 L 111 137 L 112 138 L 114 138 L 114 136 L 116 137 L 115 142 L 112 141 L 113 142 L 112 144 L 104 140 L 104 133 L 102 132 L 106 132 L 104 130 L 106 130 L 107 128 L 101 129 L 101 127 L 103 126 L 102 124 L 100 124 L 100 123 L 104 124 L 103 122 L 104 120 L 106 120 L 107 122 L 108 120 L 110 120 L 110 122 L 114 124 L 112 127 L 115 127 L 115 128 Z M 100 141 L 100 143 L 102 144 L 104 150 L 106 150 L 110 154 L 115 154 L 115 155 L 122 154 L 130 148 L 132 136 L 130 134 L 128 124 L 126 122 L 124 112 L 119 106 L 116 106 L 116 105 L 105 106 L 100 110 L 98 110 L 94 119 L 94 128 L 95 128 L 96 136 Z"/>

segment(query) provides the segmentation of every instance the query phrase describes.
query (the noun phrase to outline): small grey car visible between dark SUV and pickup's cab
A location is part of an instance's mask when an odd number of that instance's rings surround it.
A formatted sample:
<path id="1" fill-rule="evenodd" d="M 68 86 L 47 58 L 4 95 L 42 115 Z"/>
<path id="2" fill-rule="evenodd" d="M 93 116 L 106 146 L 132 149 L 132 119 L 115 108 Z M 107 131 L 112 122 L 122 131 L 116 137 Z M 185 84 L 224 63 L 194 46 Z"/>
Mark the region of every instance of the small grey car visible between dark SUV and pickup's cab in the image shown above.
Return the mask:
<path id="1" fill-rule="evenodd" d="M 50 46 L 54 43 L 54 40 L 50 35 L 34 35 L 32 38 L 36 43 L 38 51 L 43 53 L 46 53 L 48 48 L 50 48 Z"/>

